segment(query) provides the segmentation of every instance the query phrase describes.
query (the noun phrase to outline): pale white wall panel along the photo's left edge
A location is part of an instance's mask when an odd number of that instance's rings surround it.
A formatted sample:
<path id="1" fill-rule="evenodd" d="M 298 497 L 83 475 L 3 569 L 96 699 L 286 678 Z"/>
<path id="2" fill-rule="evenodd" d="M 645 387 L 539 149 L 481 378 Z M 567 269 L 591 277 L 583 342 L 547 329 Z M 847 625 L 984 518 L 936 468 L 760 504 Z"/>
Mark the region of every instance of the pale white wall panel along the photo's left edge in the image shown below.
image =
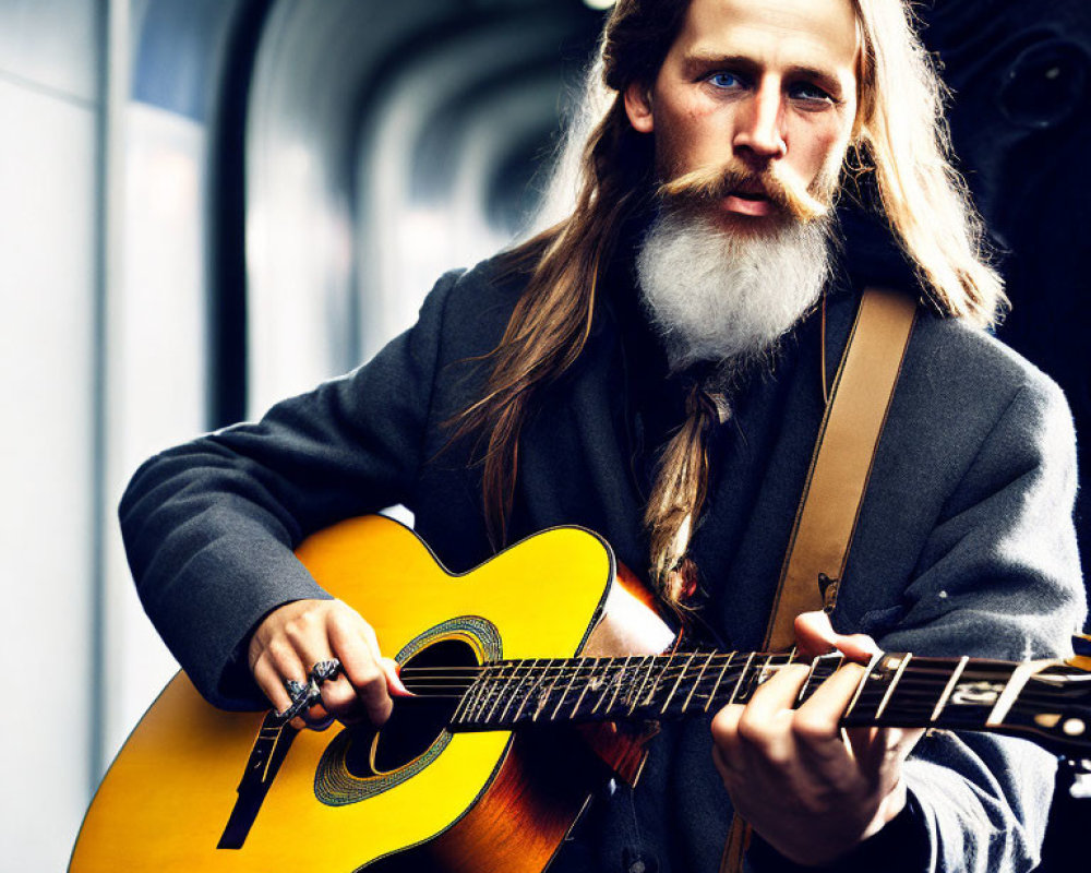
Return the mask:
<path id="1" fill-rule="evenodd" d="M 0 2 L 0 719 L 4 870 L 62 870 L 88 797 L 94 0 Z"/>

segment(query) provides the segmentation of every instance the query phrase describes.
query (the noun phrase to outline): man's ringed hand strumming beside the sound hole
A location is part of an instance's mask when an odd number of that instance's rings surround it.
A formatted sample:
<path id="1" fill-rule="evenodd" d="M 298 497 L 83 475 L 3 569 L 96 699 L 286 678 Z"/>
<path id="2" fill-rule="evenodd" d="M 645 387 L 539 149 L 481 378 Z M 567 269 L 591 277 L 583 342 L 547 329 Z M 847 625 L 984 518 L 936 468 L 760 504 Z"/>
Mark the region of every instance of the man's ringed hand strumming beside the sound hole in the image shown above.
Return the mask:
<path id="1" fill-rule="evenodd" d="M 391 696 L 408 694 L 397 663 L 380 654 L 374 630 L 340 600 L 293 600 L 274 609 L 254 631 L 248 655 L 254 681 L 278 713 L 291 705 L 286 680 L 305 684 L 319 661 L 340 661 L 340 675 L 322 684 L 322 704 L 291 720 L 300 730 L 321 730 L 333 718 L 377 727 L 391 716 Z"/>

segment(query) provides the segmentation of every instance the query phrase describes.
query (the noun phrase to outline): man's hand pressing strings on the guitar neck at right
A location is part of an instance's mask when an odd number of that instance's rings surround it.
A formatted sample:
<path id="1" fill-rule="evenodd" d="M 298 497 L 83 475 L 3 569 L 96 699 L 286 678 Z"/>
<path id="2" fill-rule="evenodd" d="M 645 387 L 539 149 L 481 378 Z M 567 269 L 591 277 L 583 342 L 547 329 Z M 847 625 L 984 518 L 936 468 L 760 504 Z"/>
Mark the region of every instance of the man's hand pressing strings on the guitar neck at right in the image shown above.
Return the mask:
<path id="1" fill-rule="evenodd" d="M 839 721 L 877 651 L 860 634 L 834 633 L 822 612 L 795 620 L 804 661 L 837 648 L 841 667 L 798 709 L 805 662 L 782 668 L 746 705 L 712 721 L 712 757 L 735 811 L 775 849 L 825 864 L 878 833 L 906 805 L 901 764 L 923 734 L 899 728 L 842 730 Z"/>

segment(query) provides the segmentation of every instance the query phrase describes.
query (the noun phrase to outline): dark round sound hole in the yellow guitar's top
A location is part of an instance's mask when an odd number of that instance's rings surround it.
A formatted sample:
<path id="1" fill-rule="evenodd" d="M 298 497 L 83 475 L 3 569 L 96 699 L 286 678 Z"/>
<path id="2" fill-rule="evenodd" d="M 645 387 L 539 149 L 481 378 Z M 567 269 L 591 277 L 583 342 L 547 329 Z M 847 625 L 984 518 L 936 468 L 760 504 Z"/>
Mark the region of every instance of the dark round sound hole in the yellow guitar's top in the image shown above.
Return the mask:
<path id="1" fill-rule="evenodd" d="M 460 639 L 440 639 L 409 658 L 406 668 L 441 668 L 427 684 L 418 679 L 407 679 L 410 690 L 418 687 L 415 697 L 395 697 L 389 720 L 376 731 L 370 725 L 348 728 L 349 743 L 345 766 L 357 778 L 367 778 L 397 770 L 424 754 L 440 739 L 458 706 L 455 690 L 444 695 L 442 685 L 449 684 L 458 668 L 477 667 L 473 648 Z M 454 669 L 451 669 L 454 668 Z M 433 695 L 433 696 L 428 696 Z M 372 764 L 374 749 L 374 765 Z"/>

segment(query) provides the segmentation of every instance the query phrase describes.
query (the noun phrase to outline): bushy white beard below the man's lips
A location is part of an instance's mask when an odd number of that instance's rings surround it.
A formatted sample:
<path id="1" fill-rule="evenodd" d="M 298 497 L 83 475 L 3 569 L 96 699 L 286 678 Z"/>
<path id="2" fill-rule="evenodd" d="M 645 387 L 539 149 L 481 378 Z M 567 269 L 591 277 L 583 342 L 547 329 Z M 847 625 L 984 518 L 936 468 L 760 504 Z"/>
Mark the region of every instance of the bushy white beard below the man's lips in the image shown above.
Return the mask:
<path id="1" fill-rule="evenodd" d="M 678 371 L 771 351 L 817 302 L 829 262 L 827 222 L 744 236 L 696 212 L 663 211 L 636 270 L 645 311 Z"/>

